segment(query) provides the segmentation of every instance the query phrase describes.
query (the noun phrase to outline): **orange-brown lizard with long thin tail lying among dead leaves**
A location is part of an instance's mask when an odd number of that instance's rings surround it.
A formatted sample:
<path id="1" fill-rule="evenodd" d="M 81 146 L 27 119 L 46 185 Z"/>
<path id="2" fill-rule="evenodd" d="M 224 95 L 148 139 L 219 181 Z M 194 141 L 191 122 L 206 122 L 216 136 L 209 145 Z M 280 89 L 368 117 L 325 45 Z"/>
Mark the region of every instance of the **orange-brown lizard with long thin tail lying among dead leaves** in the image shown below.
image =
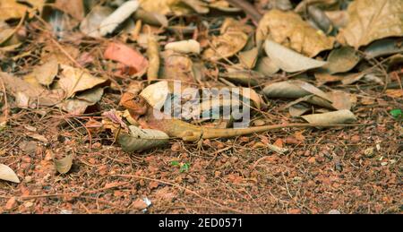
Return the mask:
<path id="1" fill-rule="evenodd" d="M 156 110 L 141 97 L 127 96 L 130 93 L 124 93 L 120 105 L 126 107 L 129 113 L 134 118 L 141 118 L 141 125 L 146 125 L 150 129 L 155 129 L 167 133 L 171 138 L 180 138 L 184 142 L 199 142 L 202 139 L 216 139 L 216 138 L 231 138 L 240 135 L 247 135 L 252 133 L 263 133 L 283 128 L 307 128 L 307 127 L 347 127 L 357 126 L 354 124 L 337 124 L 337 125 L 323 125 L 323 124 L 281 124 L 281 125 L 262 125 L 253 126 L 244 129 L 234 128 L 210 128 L 199 125 L 192 125 L 180 119 L 171 118 L 164 115 L 164 113 Z M 135 100 L 135 103 L 133 101 Z"/>

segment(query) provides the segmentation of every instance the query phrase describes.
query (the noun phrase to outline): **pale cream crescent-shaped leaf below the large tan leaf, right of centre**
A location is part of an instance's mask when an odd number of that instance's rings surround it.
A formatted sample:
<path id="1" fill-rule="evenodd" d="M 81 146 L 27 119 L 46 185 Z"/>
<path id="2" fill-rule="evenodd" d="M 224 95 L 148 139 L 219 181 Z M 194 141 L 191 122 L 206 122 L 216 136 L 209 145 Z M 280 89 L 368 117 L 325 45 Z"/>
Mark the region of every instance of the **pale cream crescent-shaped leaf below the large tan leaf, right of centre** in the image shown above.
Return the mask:
<path id="1" fill-rule="evenodd" d="M 322 67 L 326 62 L 308 58 L 270 39 L 266 39 L 264 50 L 272 62 L 288 73 Z"/>

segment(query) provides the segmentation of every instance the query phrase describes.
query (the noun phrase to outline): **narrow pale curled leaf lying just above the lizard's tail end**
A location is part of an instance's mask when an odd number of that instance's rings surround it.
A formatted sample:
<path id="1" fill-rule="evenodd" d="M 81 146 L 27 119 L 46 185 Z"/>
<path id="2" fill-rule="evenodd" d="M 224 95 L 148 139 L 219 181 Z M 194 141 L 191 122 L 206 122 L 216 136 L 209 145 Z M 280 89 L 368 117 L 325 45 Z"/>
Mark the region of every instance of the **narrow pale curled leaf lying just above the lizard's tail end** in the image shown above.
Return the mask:
<path id="1" fill-rule="evenodd" d="M 302 116 L 302 118 L 304 118 L 304 120 L 306 120 L 310 124 L 323 124 L 323 125 L 349 124 L 356 122 L 356 116 L 347 109 L 342 109 L 339 111 L 323 114 Z"/>

